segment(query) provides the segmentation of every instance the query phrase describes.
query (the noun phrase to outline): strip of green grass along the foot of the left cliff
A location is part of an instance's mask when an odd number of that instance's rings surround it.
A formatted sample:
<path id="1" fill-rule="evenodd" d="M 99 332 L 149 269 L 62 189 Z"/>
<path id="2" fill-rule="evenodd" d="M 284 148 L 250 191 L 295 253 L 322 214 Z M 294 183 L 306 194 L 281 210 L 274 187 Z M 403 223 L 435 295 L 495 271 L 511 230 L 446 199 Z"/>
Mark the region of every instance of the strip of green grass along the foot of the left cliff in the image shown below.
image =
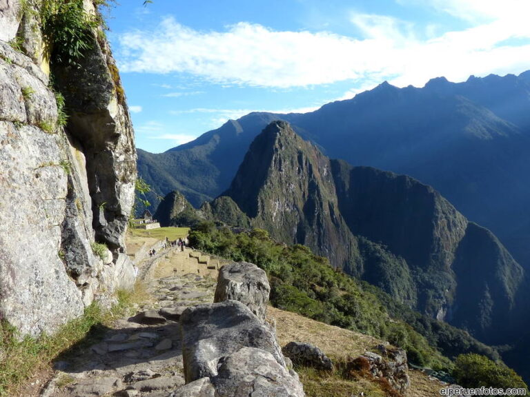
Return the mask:
<path id="1" fill-rule="evenodd" d="M 39 338 L 21 338 L 6 321 L 0 323 L 0 397 L 17 395 L 17 389 L 32 374 L 49 368 L 59 356 L 75 354 L 72 349 L 96 343 L 101 338 L 97 332 L 103 325 L 110 325 L 115 318 L 130 314 L 135 303 L 145 299 L 143 285 L 135 285 L 133 291 L 118 291 L 118 303 L 109 311 L 92 303 L 83 316 L 70 320 L 53 335 Z M 67 380 L 65 380 L 66 382 Z"/>

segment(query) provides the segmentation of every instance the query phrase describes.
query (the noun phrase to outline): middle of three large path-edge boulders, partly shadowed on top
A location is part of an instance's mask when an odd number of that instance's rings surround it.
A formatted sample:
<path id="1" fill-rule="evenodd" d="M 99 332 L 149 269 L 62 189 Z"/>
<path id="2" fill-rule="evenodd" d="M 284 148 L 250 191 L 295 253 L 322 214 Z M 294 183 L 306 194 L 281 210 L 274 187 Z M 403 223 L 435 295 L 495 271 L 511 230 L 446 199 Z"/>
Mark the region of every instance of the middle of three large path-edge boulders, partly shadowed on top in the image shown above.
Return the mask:
<path id="1" fill-rule="evenodd" d="M 243 347 L 268 352 L 286 367 L 271 329 L 243 303 L 225 301 L 189 307 L 180 318 L 186 383 L 217 375 L 219 360 Z"/>

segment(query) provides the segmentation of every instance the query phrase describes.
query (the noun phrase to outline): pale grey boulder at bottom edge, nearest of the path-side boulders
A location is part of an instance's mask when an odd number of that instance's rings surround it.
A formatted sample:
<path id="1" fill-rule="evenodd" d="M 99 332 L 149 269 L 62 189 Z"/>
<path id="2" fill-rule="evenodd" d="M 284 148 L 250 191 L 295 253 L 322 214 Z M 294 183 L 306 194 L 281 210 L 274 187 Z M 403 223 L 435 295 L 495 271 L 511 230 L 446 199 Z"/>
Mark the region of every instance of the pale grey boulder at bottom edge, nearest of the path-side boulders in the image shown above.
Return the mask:
<path id="1" fill-rule="evenodd" d="M 179 389 L 174 397 L 303 397 L 296 376 L 261 349 L 243 347 L 222 358 L 217 376 L 201 378 Z"/>

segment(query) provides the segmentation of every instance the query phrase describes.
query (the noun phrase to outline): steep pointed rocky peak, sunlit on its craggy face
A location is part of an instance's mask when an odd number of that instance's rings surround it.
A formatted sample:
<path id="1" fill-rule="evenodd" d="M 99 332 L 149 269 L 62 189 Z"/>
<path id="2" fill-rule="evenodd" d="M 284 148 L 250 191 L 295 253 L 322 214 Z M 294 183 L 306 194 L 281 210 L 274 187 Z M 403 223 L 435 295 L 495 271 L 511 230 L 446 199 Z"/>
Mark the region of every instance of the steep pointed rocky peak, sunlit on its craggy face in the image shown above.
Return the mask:
<path id="1" fill-rule="evenodd" d="M 357 241 L 340 215 L 331 163 L 284 121 L 257 136 L 223 194 L 286 243 L 313 247 L 335 267 L 357 274 Z"/>

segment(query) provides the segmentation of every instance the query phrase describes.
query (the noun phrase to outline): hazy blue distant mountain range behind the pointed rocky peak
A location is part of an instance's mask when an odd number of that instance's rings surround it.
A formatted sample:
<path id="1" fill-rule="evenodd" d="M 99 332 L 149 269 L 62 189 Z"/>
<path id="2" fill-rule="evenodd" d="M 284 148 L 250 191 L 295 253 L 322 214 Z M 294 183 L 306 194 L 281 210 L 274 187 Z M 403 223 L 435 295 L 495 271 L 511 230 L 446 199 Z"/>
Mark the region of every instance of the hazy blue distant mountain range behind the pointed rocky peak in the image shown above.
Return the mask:
<path id="1" fill-rule="evenodd" d="M 277 119 L 327 156 L 432 185 L 530 267 L 530 71 L 424 88 L 382 83 L 311 113 L 251 113 L 161 154 L 139 150 L 139 174 L 157 194 L 179 190 L 198 207 L 230 186 L 253 139 Z"/>

